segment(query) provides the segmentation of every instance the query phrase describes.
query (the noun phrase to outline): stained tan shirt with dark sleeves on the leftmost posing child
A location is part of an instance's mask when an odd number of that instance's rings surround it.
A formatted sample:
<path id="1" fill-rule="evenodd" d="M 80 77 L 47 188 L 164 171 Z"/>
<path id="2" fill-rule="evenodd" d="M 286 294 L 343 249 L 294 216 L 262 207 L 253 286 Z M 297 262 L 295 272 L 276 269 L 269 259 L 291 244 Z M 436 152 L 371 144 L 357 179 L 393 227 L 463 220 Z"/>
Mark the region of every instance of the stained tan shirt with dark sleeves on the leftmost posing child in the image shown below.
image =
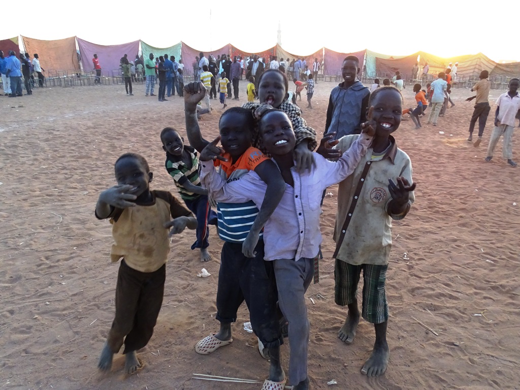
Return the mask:
<path id="1" fill-rule="evenodd" d="M 151 193 L 152 203 L 115 209 L 110 215 L 115 241 L 110 252 L 112 263 L 123 257 L 129 267 L 140 272 L 157 271 L 166 263 L 170 239 L 164 224 L 172 217 L 191 213 L 170 192 Z"/>

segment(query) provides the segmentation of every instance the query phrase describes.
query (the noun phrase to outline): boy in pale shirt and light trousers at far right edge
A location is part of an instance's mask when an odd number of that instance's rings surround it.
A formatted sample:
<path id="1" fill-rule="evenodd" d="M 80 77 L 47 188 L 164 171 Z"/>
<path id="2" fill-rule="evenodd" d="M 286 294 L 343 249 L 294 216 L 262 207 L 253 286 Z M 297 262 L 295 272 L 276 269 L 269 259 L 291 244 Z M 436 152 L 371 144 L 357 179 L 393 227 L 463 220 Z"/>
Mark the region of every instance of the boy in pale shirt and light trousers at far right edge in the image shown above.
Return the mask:
<path id="1" fill-rule="evenodd" d="M 520 110 L 520 94 L 517 90 L 520 87 L 518 79 L 509 81 L 509 91 L 502 94 L 497 99 L 497 110 L 495 111 L 495 128 L 489 139 L 486 161 L 491 161 L 493 151 L 497 146 L 500 136 L 504 136 L 502 145 L 502 157 L 508 160 L 511 166 L 518 164 L 513 161 L 513 131 L 515 129 L 515 115 Z"/>

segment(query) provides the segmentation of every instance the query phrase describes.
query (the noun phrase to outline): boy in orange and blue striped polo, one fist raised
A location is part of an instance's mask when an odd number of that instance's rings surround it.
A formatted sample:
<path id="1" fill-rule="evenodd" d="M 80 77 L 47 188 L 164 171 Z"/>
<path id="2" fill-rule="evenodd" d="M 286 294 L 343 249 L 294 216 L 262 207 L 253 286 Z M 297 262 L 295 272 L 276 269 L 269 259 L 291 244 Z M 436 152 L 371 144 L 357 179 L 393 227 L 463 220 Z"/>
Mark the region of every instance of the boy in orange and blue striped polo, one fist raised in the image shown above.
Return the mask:
<path id="1" fill-rule="evenodd" d="M 195 106 L 203 99 L 206 89 L 202 83 L 190 83 L 185 93 L 188 140 L 196 150 L 202 151 L 209 142 L 200 132 Z M 264 262 L 262 229 L 283 196 L 285 185 L 276 165 L 251 146 L 255 128 L 251 110 L 230 108 L 220 117 L 218 127 L 226 153 L 215 160 L 215 165 L 220 166 L 223 178 L 237 180 L 254 170 L 267 183 L 267 190 L 260 210 L 253 202 L 217 204 L 218 234 L 224 240 L 217 285 L 216 319 L 220 329 L 199 341 L 195 352 L 211 354 L 233 341 L 231 323 L 237 320 L 238 308 L 245 300 L 253 331 L 258 337 L 259 352 L 263 357 L 271 356 L 272 366 L 276 365 L 283 337 L 276 305 L 274 270 L 272 263 Z M 283 372 L 273 369 L 269 378 L 281 381 Z"/>

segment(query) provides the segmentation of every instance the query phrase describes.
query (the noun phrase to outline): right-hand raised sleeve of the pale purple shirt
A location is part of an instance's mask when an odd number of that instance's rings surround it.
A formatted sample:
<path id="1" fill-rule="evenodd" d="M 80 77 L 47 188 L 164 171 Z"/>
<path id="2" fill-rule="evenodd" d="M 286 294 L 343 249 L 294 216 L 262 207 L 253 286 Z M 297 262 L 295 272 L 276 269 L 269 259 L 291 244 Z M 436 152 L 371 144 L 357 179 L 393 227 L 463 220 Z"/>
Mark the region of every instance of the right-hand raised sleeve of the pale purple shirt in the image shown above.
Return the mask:
<path id="1" fill-rule="evenodd" d="M 324 160 L 327 167 L 322 173 L 324 185 L 326 187 L 332 186 L 350 176 L 361 161 L 361 157 L 367 153 L 368 147 L 372 144 L 372 139 L 371 136 L 360 134 L 350 147 L 343 152 L 339 160 L 336 162 Z"/>

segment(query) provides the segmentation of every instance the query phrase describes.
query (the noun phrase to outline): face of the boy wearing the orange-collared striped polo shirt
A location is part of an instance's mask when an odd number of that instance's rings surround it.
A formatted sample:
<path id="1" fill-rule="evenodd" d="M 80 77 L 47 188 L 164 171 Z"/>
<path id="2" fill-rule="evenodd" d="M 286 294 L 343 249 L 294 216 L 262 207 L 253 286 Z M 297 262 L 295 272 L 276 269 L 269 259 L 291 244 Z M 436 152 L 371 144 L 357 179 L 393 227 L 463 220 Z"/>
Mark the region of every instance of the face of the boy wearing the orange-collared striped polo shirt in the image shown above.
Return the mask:
<path id="1" fill-rule="evenodd" d="M 224 113 L 218 124 L 220 144 L 231 154 L 233 160 L 239 158 L 251 146 L 251 129 L 245 114 Z"/>

